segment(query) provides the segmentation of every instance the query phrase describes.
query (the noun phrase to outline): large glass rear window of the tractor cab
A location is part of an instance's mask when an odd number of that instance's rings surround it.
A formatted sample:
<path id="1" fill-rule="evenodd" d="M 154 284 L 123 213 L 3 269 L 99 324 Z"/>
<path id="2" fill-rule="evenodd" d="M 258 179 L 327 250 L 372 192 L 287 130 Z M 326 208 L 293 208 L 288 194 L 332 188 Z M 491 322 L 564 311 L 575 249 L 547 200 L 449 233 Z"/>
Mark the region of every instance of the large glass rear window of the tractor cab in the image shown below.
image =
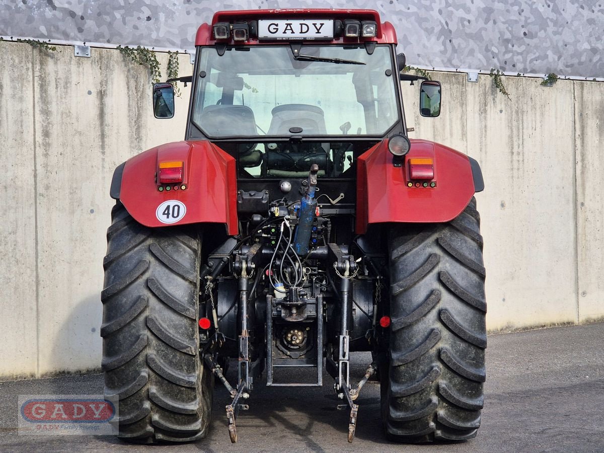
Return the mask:
<path id="1" fill-rule="evenodd" d="M 193 122 L 210 138 L 382 136 L 399 121 L 388 46 L 203 48 Z"/>

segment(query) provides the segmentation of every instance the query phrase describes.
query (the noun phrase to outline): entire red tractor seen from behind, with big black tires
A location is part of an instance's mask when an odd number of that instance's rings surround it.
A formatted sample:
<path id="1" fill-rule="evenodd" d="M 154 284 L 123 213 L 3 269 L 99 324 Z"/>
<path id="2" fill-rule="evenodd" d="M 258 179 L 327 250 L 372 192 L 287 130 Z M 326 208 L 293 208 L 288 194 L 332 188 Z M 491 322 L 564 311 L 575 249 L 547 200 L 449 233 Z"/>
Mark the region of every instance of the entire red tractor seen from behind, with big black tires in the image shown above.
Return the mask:
<path id="1" fill-rule="evenodd" d="M 269 387 L 321 386 L 324 369 L 349 442 L 372 375 L 390 439 L 474 437 L 483 178 L 474 159 L 407 137 L 400 80 L 422 77 L 400 74 L 393 25 L 372 10 L 220 11 L 196 48 L 178 79 L 192 83 L 185 140 L 129 159 L 111 184 L 101 336 L 120 437 L 201 439 L 216 382 L 236 442 L 263 373 Z M 420 113 L 437 117 L 440 96 L 423 80 Z M 153 106 L 172 117 L 171 83 Z M 353 384 L 359 351 L 373 362 Z"/>

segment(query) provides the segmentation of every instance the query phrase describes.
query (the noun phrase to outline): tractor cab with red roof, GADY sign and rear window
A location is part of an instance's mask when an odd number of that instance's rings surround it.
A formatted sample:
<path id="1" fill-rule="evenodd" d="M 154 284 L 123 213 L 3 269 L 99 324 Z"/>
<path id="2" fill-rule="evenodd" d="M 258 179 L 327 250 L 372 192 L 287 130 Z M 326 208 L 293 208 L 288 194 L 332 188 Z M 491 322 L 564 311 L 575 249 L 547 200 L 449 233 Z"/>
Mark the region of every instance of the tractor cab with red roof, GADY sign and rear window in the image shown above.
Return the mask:
<path id="1" fill-rule="evenodd" d="M 222 11 L 196 45 L 187 139 L 228 150 L 239 179 L 304 178 L 313 162 L 351 177 L 374 144 L 406 141 L 405 58 L 375 11 Z"/>

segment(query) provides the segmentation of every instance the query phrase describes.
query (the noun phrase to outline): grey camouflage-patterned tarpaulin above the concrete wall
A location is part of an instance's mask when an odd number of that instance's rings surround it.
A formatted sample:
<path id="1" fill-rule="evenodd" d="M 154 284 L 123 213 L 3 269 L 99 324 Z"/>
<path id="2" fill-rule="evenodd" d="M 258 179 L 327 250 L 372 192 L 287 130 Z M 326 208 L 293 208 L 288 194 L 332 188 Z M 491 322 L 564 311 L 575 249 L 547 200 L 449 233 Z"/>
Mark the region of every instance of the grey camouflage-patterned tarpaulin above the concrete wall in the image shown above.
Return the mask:
<path id="1" fill-rule="evenodd" d="M 602 0 L 2 0 L 0 36 L 193 48 L 216 10 L 375 8 L 425 68 L 604 77 Z"/>

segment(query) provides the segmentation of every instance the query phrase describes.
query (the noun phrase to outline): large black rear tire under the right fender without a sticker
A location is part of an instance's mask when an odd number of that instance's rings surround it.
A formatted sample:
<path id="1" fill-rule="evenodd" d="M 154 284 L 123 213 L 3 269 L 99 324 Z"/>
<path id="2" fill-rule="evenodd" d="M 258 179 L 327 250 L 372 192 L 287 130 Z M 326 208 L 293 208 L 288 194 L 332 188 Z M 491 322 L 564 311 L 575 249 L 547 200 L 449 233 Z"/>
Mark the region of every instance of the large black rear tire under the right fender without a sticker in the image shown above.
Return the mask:
<path id="1" fill-rule="evenodd" d="M 451 222 L 391 227 L 382 422 L 392 440 L 466 440 L 480 426 L 487 338 L 475 207 L 472 198 Z"/>

